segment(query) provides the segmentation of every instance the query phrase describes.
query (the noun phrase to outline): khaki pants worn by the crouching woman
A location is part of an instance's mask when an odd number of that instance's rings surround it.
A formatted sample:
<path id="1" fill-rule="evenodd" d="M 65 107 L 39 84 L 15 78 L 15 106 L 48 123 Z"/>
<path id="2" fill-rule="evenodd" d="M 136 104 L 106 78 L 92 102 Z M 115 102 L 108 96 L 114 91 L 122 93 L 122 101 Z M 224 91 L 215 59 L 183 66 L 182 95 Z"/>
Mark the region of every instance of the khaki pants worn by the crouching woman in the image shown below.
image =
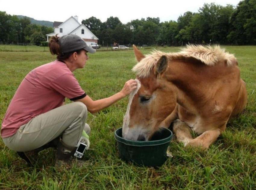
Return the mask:
<path id="1" fill-rule="evenodd" d="M 31 151 L 62 135 L 62 141 L 74 147 L 83 130 L 91 129 L 86 124 L 87 108 L 82 102 L 72 102 L 40 114 L 20 126 L 12 136 L 3 138 L 5 145 L 14 151 Z"/>

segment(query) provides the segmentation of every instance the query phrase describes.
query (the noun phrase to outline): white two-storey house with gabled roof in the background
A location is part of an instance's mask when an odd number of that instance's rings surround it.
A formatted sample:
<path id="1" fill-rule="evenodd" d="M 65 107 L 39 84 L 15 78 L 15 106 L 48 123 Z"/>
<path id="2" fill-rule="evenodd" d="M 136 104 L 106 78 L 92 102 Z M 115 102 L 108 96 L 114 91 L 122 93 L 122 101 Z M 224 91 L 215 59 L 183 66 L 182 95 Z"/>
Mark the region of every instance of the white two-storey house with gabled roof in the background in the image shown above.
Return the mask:
<path id="1" fill-rule="evenodd" d="M 64 36 L 66 34 L 76 34 L 80 36 L 87 45 L 93 43 L 98 43 L 98 38 L 84 25 L 78 22 L 77 16 L 71 16 L 64 22 L 53 23 L 54 33 L 46 34 L 47 42 L 51 36 L 58 34 L 58 37 Z"/>

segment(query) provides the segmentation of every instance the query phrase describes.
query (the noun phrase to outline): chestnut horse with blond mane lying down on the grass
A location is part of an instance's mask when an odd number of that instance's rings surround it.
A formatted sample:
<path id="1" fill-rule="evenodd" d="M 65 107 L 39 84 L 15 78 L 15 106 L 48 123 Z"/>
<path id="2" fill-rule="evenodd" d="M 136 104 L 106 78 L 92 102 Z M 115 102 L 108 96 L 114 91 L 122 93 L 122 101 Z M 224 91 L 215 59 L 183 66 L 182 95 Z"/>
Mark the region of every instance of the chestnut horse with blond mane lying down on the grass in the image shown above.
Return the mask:
<path id="1" fill-rule="evenodd" d="M 236 58 L 220 46 L 188 45 L 178 53 L 146 56 L 135 45 L 133 49 L 139 62 L 133 67 L 138 87 L 123 120 L 125 139 L 150 140 L 175 121 L 178 142 L 207 149 L 229 118 L 245 108 L 247 91 Z"/>

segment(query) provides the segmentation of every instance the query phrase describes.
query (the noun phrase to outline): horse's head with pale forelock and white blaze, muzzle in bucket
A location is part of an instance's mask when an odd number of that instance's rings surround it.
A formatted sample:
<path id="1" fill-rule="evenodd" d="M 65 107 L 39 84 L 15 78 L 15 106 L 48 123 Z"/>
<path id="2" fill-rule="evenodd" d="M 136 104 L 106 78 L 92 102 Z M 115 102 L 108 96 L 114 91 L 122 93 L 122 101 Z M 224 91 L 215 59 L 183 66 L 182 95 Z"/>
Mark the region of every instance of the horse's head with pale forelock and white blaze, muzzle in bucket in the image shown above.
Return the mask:
<path id="1" fill-rule="evenodd" d="M 122 135 L 129 140 L 148 141 L 173 112 L 176 95 L 172 84 L 165 77 L 168 73 L 167 56 L 145 57 L 136 46 L 133 49 L 139 62 L 133 67 L 137 73 L 138 86 L 130 95 Z"/>

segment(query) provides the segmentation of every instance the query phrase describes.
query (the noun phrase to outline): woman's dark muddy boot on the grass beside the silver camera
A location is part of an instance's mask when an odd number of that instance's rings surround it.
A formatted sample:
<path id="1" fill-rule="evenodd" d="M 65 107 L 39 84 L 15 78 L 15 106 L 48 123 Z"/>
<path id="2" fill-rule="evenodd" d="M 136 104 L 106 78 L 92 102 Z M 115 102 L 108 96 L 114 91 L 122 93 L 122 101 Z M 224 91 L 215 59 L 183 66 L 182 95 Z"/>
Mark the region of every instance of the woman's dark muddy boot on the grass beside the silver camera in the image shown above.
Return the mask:
<path id="1" fill-rule="evenodd" d="M 66 145 L 63 141 L 59 143 L 58 149 L 56 152 L 57 160 L 55 162 L 55 169 L 58 172 L 61 172 L 64 169 L 69 170 L 73 166 L 77 168 L 81 168 L 85 165 L 85 161 L 74 157 L 75 151 L 76 151 L 76 147 L 70 147 Z"/>

